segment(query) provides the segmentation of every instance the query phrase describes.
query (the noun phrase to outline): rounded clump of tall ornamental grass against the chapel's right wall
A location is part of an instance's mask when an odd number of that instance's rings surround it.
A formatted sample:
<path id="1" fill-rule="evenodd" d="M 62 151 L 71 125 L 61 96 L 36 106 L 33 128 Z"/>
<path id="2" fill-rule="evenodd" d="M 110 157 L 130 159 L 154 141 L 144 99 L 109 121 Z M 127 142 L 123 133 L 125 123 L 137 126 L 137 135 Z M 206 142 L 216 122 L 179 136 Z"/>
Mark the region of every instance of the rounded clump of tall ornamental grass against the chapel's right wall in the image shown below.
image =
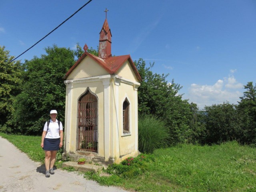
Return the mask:
<path id="1" fill-rule="evenodd" d="M 165 122 L 152 115 L 139 117 L 138 145 L 142 153 L 152 153 L 155 149 L 168 144 L 169 128 Z"/>

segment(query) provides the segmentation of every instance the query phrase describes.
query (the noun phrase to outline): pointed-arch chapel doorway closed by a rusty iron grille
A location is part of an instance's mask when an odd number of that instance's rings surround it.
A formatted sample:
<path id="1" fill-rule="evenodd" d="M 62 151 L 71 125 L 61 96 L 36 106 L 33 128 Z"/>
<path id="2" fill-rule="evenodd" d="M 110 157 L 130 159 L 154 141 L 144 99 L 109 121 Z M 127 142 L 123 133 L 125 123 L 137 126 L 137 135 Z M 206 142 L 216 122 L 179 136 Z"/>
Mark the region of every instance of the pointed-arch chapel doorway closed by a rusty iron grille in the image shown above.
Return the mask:
<path id="1" fill-rule="evenodd" d="M 98 153 L 98 98 L 88 88 L 78 100 L 78 150 Z"/>

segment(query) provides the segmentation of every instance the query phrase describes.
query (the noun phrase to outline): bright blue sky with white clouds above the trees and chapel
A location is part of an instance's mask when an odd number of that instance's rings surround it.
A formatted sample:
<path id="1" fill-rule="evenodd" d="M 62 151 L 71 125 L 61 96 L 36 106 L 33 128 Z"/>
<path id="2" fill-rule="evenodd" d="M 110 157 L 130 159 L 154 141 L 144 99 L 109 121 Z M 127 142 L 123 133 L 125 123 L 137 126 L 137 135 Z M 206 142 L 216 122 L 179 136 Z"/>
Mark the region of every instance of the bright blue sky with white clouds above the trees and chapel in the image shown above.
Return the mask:
<path id="1" fill-rule="evenodd" d="M 0 0 L 0 45 L 18 56 L 87 0 Z M 112 54 L 155 62 L 184 99 L 205 105 L 237 104 L 247 82 L 256 83 L 255 0 L 92 0 L 19 59 L 57 44 L 97 48 L 108 9 Z M 149 66 L 149 65 L 148 65 Z"/>

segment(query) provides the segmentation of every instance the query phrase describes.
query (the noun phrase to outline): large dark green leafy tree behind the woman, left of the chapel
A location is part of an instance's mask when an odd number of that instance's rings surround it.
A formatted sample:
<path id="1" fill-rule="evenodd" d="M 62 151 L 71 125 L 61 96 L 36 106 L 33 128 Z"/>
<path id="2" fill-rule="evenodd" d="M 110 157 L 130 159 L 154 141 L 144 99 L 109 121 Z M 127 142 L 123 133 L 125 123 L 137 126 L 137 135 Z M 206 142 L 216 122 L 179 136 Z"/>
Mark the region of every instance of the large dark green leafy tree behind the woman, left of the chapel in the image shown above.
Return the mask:
<path id="1" fill-rule="evenodd" d="M 63 76 L 74 64 L 74 52 L 69 48 L 45 48 L 41 58 L 26 60 L 22 92 L 14 99 L 14 111 L 8 121 L 10 132 L 40 134 L 51 109 L 58 111 L 64 124 L 66 86 Z"/>

